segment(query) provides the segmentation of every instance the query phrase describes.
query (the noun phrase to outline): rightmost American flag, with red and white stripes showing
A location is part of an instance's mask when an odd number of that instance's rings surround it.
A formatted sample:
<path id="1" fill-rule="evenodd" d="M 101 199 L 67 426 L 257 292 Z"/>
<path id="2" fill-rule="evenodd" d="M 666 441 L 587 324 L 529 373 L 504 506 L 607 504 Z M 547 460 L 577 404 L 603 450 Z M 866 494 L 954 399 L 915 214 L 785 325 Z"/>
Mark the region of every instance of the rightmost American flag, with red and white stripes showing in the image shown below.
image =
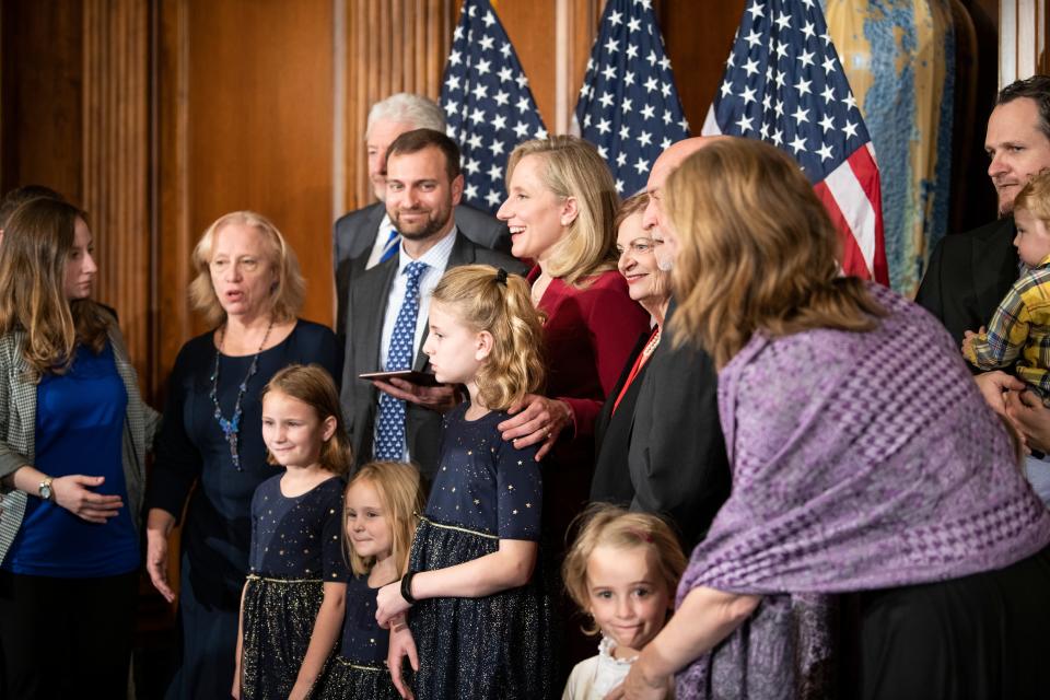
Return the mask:
<path id="1" fill-rule="evenodd" d="M 889 283 L 875 151 L 816 0 L 748 0 L 702 133 L 794 156 L 839 229 L 845 273 Z"/>

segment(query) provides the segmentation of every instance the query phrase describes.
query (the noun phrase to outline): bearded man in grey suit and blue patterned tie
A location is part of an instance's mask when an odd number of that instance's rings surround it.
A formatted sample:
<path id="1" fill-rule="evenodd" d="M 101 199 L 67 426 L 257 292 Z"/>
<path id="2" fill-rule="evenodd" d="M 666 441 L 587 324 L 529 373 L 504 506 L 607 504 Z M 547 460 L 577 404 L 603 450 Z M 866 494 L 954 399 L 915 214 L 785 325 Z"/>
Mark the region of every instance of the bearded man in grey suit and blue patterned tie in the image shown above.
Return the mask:
<path id="1" fill-rule="evenodd" d="M 357 463 L 415 462 L 429 480 L 438 468 L 441 415 L 452 387 L 401 378 L 366 382 L 368 372 L 429 369 L 422 353 L 430 292 L 444 271 L 486 264 L 521 273 L 514 258 L 478 245 L 453 215 L 463 196 L 459 149 L 441 131 L 407 131 L 389 147 L 386 212 L 400 235 L 396 255 L 354 276 L 346 305 L 342 409 Z"/>

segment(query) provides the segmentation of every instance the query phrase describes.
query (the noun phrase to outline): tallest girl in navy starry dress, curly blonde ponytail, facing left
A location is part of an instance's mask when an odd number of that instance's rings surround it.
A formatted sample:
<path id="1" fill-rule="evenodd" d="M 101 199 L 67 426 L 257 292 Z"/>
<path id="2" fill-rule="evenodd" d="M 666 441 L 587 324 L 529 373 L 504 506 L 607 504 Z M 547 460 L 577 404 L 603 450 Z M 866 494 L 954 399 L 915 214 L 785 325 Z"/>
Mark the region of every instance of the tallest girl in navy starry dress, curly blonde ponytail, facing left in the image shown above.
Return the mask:
<path id="1" fill-rule="evenodd" d="M 517 450 L 497 430 L 542 385 L 540 316 L 524 279 L 475 265 L 445 273 L 429 324 L 423 351 L 438 380 L 466 385 L 469 400 L 445 416 L 409 570 L 378 593 L 390 672 L 406 689 L 408 655 L 419 700 L 550 698 L 551 604 L 536 565 L 539 465 L 535 447 Z"/>

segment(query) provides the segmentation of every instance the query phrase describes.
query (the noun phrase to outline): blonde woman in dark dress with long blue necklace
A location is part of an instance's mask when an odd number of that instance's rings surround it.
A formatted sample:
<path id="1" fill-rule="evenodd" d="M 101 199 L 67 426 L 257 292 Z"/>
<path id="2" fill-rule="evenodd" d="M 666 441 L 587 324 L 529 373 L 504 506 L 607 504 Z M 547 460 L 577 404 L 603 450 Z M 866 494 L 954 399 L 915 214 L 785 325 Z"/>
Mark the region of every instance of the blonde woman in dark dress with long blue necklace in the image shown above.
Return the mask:
<path id="1" fill-rule="evenodd" d="M 194 267 L 190 300 L 217 327 L 175 360 L 148 498 L 147 570 L 168 600 L 167 536 L 186 506 L 173 698 L 230 691 L 252 494 L 273 475 L 260 430 L 262 387 L 289 364 L 316 362 L 337 377 L 340 366 L 331 330 L 296 318 L 299 264 L 265 217 L 218 219 L 194 249 Z"/>

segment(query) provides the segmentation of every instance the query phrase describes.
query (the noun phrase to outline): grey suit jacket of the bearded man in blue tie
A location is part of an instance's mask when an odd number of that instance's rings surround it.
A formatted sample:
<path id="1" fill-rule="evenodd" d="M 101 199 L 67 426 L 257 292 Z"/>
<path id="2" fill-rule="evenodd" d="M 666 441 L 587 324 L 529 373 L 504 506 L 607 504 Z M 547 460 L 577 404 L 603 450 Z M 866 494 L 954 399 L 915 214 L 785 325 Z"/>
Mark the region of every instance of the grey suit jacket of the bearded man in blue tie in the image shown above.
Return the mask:
<path id="1" fill-rule="evenodd" d="M 456 242 L 448 256 L 452 269 L 460 265 L 472 264 L 502 267 L 509 272 L 521 275 L 525 266 L 502 253 L 490 250 L 474 243 L 464 235 L 456 234 Z M 397 275 L 398 259 L 393 257 L 386 262 L 355 275 L 350 284 L 347 304 L 347 328 L 353 331 L 347 337 L 346 360 L 342 371 L 342 392 L 340 401 L 347 419 L 350 444 L 353 445 L 354 463 L 362 465 L 372 459 L 372 434 L 375 425 L 375 411 L 378 406 L 378 389 L 371 382 L 358 378 L 363 372 L 376 372 L 380 366 L 380 343 L 383 337 L 383 318 L 386 315 L 390 289 Z M 423 354 L 423 331 L 420 347 L 416 349 L 412 369 L 427 372 L 430 361 Z M 405 439 L 412 459 L 418 464 L 420 474 L 429 481 L 438 470 L 441 439 L 441 413 L 408 402 L 405 411 Z"/>

